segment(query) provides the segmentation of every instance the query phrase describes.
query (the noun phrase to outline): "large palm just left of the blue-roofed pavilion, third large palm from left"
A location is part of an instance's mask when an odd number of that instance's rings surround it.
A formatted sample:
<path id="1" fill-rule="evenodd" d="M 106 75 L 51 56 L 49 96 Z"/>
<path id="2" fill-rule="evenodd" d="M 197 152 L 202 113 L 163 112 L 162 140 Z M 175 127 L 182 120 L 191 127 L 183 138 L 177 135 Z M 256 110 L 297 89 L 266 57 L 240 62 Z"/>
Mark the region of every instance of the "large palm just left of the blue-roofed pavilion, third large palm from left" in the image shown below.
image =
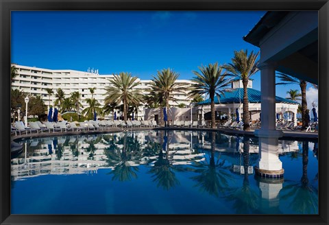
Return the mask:
<path id="1" fill-rule="evenodd" d="M 190 91 L 191 97 L 197 95 L 208 94 L 210 97 L 211 108 L 211 127 L 216 128 L 215 124 L 215 94 L 223 93 L 223 89 L 230 84 L 230 80 L 226 79 L 226 73 L 222 73 L 222 68 L 218 66 L 218 63 L 208 64 L 208 67 L 198 67 L 200 72 L 193 71 L 196 75 L 192 79 L 195 84 Z"/>

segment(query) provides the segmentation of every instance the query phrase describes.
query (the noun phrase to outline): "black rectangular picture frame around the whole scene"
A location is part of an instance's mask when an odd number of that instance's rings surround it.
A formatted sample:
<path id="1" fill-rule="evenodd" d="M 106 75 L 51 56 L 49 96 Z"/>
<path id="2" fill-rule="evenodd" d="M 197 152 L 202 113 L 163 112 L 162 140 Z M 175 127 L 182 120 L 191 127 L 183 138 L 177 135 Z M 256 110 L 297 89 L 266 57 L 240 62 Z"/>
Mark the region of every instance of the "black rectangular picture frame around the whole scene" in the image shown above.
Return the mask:
<path id="1" fill-rule="evenodd" d="M 10 12 L 12 10 L 318 10 L 319 115 L 327 115 L 329 112 L 328 0 L 0 0 L 0 7 L 1 224 L 328 224 L 329 158 L 326 151 L 329 140 L 328 117 L 321 117 L 319 124 L 319 215 L 11 215 L 9 132 Z"/>

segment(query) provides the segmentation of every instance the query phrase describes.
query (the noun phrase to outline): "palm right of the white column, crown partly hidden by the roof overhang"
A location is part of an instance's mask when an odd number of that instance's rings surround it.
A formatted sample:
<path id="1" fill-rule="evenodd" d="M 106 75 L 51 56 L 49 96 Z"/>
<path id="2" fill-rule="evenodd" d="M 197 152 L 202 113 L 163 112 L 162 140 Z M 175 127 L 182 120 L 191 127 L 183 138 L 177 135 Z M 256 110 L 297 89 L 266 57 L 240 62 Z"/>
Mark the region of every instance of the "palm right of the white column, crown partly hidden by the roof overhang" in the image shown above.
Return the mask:
<path id="1" fill-rule="evenodd" d="M 307 102 L 306 102 L 306 86 L 307 82 L 300 78 L 295 78 L 291 75 L 285 73 L 277 73 L 277 77 L 282 81 L 277 83 L 280 84 L 298 84 L 300 86 L 300 90 L 302 91 L 302 130 L 306 130 L 308 126 L 308 113 L 307 113 Z"/>

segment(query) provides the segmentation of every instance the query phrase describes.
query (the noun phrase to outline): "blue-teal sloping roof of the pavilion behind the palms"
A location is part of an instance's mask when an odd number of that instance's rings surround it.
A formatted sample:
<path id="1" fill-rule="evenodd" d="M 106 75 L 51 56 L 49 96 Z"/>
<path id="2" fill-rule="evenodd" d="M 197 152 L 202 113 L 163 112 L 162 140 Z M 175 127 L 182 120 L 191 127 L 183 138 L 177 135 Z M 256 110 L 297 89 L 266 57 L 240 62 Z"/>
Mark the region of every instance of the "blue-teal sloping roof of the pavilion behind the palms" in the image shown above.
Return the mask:
<path id="1" fill-rule="evenodd" d="M 261 93 L 253 88 L 248 89 L 248 100 L 249 103 L 260 103 Z M 232 91 L 224 92 L 224 95 L 215 96 L 215 104 L 233 104 L 243 103 L 243 88 L 234 88 Z M 219 102 L 220 101 L 220 102 Z M 298 102 L 285 99 L 283 97 L 276 96 L 276 103 L 287 103 L 287 104 L 298 104 Z M 198 105 L 209 105 L 210 99 L 206 99 L 203 102 L 199 102 Z"/>

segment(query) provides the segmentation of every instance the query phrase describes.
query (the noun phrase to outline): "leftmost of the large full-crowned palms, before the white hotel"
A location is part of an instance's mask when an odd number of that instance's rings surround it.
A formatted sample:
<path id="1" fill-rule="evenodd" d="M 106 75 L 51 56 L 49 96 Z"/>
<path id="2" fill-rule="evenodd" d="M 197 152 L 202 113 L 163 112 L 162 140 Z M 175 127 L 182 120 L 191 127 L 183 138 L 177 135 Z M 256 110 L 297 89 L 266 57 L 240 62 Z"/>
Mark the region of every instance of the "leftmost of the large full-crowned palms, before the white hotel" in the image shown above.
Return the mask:
<path id="1" fill-rule="evenodd" d="M 104 99 L 105 104 L 123 103 L 123 118 L 127 121 L 127 106 L 128 104 L 139 104 L 143 95 L 135 86 L 138 86 L 140 82 L 136 82 L 137 77 L 132 77 L 131 73 L 119 73 L 114 75 L 114 78 L 110 80 L 112 86 L 106 88 L 107 95 Z"/>

